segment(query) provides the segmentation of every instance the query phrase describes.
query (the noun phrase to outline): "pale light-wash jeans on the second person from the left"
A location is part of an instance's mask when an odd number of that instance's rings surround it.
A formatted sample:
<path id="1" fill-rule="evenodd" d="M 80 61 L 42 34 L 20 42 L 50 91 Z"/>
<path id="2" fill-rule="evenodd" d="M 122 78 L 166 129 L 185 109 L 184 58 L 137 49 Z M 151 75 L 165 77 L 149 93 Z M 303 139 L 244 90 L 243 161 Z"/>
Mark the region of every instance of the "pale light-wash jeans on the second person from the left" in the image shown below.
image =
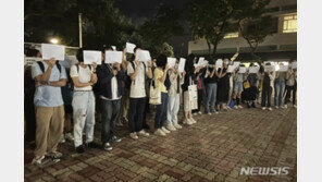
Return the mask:
<path id="1" fill-rule="evenodd" d="M 85 126 L 86 143 L 94 139 L 95 125 L 95 97 L 92 92 L 74 92 L 73 95 L 74 118 L 74 145 L 83 144 L 83 130 Z"/>

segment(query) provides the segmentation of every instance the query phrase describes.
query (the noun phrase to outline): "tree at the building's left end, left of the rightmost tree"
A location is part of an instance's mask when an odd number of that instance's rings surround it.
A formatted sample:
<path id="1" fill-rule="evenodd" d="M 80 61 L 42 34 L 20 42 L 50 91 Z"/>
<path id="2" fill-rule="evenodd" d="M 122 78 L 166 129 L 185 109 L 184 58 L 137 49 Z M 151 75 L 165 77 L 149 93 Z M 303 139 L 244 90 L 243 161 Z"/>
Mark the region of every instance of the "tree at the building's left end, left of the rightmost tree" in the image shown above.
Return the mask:
<path id="1" fill-rule="evenodd" d="M 189 27 L 195 39 L 205 38 L 209 56 L 214 56 L 224 35 L 234 31 L 231 0 L 193 0 L 187 7 Z M 211 52 L 211 46 L 213 46 Z"/>

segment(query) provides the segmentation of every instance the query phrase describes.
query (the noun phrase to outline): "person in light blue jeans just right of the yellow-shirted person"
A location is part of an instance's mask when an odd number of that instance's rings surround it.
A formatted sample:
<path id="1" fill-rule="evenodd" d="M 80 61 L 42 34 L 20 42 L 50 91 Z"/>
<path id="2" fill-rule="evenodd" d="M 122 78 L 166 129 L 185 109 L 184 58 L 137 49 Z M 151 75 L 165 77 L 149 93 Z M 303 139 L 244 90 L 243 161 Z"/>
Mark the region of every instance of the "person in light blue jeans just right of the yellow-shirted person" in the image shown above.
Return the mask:
<path id="1" fill-rule="evenodd" d="M 171 86 L 168 90 L 168 125 L 166 129 L 170 131 L 176 131 L 182 129 L 182 125 L 177 121 L 177 112 L 179 110 L 179 98 L 182 93 L 182 84 L 184 83 L 185 72 L 179 73 L 178 71 L 178 58 L 176 58 L 176 64 L 174 68 L 169 70 L 169 78 Z"/>

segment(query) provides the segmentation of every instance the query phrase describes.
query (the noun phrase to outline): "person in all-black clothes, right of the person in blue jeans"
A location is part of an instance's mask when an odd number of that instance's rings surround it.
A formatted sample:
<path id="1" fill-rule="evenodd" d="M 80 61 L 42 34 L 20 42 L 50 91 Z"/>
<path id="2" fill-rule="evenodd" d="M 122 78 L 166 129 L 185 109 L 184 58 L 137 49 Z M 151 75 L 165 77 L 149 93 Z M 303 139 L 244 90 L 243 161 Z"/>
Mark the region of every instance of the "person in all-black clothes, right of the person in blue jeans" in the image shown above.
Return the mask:
<path id="1" fill-rule="evenodd" d="M 222 68 L 218 70 L 219 72 L 219 82 L 218 82 L 218 110 L 223 109 L 227 111 L 226 104 L 228 102 L 230 97 L 230 76 L 228 71 L 228 59 L 225 58 L 223 61 Z"/>

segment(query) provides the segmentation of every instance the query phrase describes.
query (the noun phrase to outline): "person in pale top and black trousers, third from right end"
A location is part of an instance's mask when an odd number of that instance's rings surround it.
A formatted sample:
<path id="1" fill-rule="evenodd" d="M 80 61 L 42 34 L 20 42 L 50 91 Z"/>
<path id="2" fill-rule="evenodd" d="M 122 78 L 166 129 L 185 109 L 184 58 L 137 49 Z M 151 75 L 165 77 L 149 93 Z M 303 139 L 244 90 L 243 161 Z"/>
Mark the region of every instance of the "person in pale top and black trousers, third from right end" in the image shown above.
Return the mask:
<path id="1" fill-rule="evenodd" d="M 265 65 L 271 65 L 271 63 L 265 63 Z M 275 72 L 268 71 L 264 72 L 263 75 L 263 82 L 262 82 L 262 100 L 261 106 L 262 110 L 272 110 L 271 108 L 271 99 L 272 99 L 272 92 L 274 87 L 274 78 L 275 78 Z"/>

